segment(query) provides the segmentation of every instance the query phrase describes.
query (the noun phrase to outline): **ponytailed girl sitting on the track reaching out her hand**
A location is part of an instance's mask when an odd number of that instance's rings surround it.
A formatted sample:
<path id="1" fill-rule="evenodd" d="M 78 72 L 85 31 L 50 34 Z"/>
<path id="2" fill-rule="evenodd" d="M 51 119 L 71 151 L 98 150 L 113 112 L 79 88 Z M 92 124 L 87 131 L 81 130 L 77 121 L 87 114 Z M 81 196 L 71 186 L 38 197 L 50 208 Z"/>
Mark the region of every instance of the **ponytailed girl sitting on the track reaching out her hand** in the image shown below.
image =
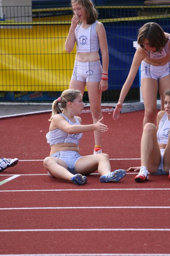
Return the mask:
<path id="1" fill-rule="evenodd" d="M 61 109 L 59 108 L 61 103 Z M 44 167 L 51 177 L 72 181 L 77 185 L 87 182 L 87 177 L 98 170 L 100 182 L 117 182 L 126 171 L 119 169 L 111 172 L 108 154 L 93 154 L 81 156 L 79 154 L 79 140 L 82 132 L 108 131 L 107 125 L 102 123 L 103 117 L 91 125 L 81 125 L 84 103 L 79 90 L 68 89 L 62 92 L 61 97 L 54 100 L 47 142 L 51 145 L 50 157 L 44 160 Z"/>

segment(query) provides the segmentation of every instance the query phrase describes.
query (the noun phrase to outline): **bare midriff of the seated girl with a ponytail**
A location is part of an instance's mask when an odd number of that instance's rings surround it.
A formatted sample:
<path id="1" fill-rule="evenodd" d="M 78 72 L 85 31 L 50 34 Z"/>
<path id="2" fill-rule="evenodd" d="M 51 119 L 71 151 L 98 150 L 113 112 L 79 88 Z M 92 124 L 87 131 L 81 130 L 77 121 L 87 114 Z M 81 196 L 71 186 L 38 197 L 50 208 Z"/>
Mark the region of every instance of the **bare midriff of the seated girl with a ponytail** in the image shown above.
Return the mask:
<path id="1" fill-rule="evenodd" d="M 71 150 L 79 153 L 79 146 L 74 143 L 58 143 L 51 145 L 50 156 L 59 151 Z"/>

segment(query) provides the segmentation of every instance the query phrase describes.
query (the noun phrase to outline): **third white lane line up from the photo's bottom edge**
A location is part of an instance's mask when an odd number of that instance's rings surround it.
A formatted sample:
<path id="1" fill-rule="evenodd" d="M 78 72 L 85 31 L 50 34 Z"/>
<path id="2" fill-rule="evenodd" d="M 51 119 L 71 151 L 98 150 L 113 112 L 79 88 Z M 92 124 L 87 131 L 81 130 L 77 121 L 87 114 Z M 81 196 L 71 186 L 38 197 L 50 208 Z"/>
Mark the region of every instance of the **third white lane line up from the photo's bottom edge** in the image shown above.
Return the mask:
<path id="1" fill-rule="evenodd" d="M 170 206 L 89 206 L 89 207 L 16 207 L 0 210 L 41 210 L 41 209 L 170 209 Z"/>

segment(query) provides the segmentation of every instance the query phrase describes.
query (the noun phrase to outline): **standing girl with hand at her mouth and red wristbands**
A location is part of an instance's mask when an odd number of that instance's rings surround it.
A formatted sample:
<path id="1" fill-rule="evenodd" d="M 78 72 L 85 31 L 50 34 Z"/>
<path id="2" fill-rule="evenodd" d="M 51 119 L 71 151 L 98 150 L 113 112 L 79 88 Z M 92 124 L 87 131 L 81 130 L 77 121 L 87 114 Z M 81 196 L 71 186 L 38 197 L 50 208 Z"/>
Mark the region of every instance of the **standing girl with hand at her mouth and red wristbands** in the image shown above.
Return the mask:
<path id="1" fill-rule="evenodd" d="M 70 88 L 81 91 L 87 86 L 93 122 L 102 118 L 102 92 L 108 89 L 108 44 L 105 28 L 97 21 L 98 13 L 91 0 L 71 0 L 74 16 L 65 41 L 66 52 L 71 52 L 77 42 Z M 102 66 L 99 58 L 102 54 Z M 94 131 L 94 154 L 102 153 L 102 134 Z"/>

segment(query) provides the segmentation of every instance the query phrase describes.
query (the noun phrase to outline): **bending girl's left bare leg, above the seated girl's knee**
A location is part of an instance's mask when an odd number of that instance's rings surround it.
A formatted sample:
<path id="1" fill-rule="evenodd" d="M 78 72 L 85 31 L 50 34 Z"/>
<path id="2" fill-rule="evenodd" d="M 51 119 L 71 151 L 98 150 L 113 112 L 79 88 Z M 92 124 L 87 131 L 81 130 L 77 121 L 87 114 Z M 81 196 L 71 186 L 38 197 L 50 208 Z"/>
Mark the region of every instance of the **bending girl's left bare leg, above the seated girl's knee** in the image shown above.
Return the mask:
<path id="1" fill-rule="evenodd" d="M 152 78 L 143 78 L 141 79 L 141 88 L 144 101 L 144 127 L 146 123 L 154 123 L 156 119 L 158 81 Z"/>

